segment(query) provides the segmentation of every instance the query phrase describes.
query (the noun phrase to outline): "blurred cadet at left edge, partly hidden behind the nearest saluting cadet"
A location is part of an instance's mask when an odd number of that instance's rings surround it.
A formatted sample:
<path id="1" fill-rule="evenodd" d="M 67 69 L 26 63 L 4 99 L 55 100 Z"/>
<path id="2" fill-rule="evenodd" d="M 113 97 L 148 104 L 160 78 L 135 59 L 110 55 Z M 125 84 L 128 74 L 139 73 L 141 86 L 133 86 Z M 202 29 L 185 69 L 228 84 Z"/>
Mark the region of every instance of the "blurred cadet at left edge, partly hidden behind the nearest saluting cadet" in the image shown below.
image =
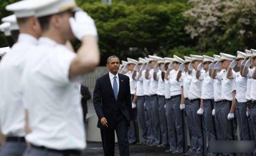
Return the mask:
<path id="1" fill-rule="evenodd" d="M 6 136 L 0 156 L 22 155 L 26 149 L 24 102 L 20 77 L 23 74 L 26 58 L 29 57 L 28 49 L 37 45 L 37 39 L 41 35 L 38 20 L 34 17 L 33 9 L 36 7 L 27 0 L 13 3 L 6 6 L 6 9 L 14 11 L 15 14 L 2 19 L 4 22 L 11 23 L 11 31 L 20 27 L 20 34 L 17 43 L 5 55 L 0 65 L 0 73 L 2 73 L 0 74 L 0 127 Z"/>

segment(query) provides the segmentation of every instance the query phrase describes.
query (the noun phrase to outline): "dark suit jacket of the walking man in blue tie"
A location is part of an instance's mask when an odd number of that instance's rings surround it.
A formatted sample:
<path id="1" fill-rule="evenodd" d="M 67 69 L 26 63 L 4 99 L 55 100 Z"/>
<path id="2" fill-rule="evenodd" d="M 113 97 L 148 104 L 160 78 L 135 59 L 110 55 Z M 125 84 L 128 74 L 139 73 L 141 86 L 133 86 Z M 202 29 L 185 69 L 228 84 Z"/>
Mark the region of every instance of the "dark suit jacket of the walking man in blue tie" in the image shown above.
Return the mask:
<path id="1" fill-rule="evenodd" d="M 128 122 L 132 120 L 131 92 L 129 77 L 118 74 L 119 92 L 115 99 L 113 88 L 110 82 L 109 73 L 96 80 L 93 91 L 93 105 L 99 118 L 98 128 L 104 129 L 100 119 L 105 117 L 109 128 L 115 127 L 117 108 L 124 114 Z"/>

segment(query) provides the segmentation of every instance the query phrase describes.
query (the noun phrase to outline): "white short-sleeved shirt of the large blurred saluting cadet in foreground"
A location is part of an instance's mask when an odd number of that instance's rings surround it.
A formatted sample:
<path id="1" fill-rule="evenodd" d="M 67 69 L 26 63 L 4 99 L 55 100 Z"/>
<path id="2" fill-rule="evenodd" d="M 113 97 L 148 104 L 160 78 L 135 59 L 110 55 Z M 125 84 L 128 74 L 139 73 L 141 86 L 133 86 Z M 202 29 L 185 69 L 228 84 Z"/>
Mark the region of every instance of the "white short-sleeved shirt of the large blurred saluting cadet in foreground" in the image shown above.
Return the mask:
<path id="1" fill-rule="evenodd" d="M 38 47 L 30 52 L 22 79 L 32 129 L 26 141 L 56 150 L 84 149 L 79 83 L 69 79 L 76 54 L 46 37 L 41 37 Z"/>

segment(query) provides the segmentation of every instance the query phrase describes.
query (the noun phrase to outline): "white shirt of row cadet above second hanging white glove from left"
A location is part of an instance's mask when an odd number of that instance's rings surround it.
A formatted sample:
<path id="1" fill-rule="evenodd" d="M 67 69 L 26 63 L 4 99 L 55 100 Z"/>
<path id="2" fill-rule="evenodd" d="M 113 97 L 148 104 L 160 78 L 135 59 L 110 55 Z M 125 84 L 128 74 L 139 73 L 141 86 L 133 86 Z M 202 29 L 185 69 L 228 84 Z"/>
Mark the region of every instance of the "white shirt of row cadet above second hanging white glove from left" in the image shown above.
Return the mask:
<path id="1" fill-rule="evenodd" d="M 177 73 L 178 73 L 178 71 L 175 71 L 174 69 L 172 71 L 170 71 L 169 82 L 170 82 L 171 96 L 181 94 L 181 84 L 183 82 L 181 82 L 181 79 L 179 82 L 177 81 Z"/>

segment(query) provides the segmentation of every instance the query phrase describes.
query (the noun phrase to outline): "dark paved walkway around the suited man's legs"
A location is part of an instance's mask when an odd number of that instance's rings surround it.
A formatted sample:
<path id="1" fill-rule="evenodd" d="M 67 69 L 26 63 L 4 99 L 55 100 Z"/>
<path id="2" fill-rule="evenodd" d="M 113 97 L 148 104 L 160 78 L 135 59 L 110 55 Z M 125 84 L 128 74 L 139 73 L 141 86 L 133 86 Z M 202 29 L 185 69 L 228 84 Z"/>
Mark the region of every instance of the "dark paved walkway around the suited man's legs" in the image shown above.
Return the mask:
<path id="1" fill-rule="evenodd" d="M 166 148 L 149 147 L 146 145 L 130 145 L 130 156 L 172 156 L 164 152 Z M 84 150 L 83 156 L 103 156 L 101 142 L 87 142 L 87 149 Z M 119 156 L 118 145 L 116 144 L 115 156 Z M 175 155 L 179 156 L 179 155 Z M 181 155 L 180 155 L 181 156 Z"/>

